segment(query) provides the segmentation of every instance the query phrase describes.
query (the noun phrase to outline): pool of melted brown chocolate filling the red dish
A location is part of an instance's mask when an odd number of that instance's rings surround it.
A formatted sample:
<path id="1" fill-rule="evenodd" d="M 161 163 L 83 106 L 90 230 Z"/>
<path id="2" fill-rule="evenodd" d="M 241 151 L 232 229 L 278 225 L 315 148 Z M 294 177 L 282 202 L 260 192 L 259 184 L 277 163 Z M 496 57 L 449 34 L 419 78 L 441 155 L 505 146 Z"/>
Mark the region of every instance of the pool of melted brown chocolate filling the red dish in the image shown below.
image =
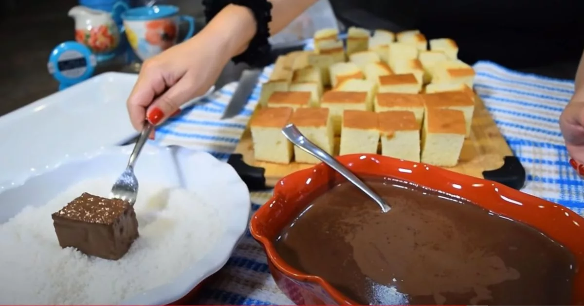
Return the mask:
<path id="1" fill-rule="evenodd" d="M 472 203 L 401 182 L 343 182 L 276 240 L 294 268 L 362 304 L 569 305 L 575 261 L 557 242 Z"/>

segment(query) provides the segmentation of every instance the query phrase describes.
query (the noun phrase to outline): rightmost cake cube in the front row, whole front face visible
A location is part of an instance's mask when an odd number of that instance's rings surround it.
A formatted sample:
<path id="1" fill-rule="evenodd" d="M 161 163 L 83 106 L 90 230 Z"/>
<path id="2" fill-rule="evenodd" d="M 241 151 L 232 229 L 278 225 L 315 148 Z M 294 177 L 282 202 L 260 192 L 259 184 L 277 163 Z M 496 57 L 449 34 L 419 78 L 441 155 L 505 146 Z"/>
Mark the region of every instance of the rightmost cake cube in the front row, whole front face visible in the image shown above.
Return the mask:
<path id="1" fill-rule="evenodd" d="M 464 145 L 464 125 L 461 111 L 429 108 L 422 128 L 422 163 L 456 166 Z"/>

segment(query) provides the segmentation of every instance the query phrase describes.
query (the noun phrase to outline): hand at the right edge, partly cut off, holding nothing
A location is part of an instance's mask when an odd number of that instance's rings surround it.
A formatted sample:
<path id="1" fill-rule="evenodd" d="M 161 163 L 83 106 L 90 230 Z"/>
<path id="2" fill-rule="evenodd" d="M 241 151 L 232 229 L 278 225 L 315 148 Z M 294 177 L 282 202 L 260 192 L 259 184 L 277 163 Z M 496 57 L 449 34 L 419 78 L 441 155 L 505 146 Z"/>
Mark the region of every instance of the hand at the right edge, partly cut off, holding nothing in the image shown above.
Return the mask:
<path id="1" fill-rule="evenodd" d="M 570 164 L 584 175 L 584 100 L 572 100 L 559 116 L 559 129 L 564 135 Z"/>

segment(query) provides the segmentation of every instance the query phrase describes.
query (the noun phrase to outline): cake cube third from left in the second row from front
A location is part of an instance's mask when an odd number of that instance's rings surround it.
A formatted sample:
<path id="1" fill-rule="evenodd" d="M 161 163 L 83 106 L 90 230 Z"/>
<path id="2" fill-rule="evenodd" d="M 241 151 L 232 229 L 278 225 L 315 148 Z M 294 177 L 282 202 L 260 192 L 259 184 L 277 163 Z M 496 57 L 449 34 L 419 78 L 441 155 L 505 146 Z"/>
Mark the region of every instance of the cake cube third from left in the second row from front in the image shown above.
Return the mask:
<path id="1" fill-rule="evenodd" d="M 378 93 L 374 99 L 374 110 L 376 112 L 411 111 L 416 122 L 421 126 L 425 104 L 421 94 Z"/>

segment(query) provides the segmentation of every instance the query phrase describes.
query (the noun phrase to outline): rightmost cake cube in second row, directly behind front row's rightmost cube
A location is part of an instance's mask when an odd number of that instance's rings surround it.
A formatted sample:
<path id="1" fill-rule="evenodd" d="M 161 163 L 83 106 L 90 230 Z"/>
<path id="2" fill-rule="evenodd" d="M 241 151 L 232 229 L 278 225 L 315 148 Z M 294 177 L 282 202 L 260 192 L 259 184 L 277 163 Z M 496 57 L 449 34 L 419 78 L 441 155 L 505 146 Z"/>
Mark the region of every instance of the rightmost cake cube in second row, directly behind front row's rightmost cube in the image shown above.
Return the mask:
<path id="1" fill-rule="evenodd" d="M 429 108 L 449 108 L 463 112 L 465 121 L 465 133 L 468 137 L 471 132 L 474 101 L 467 92 L 442 92 L 422 95 L 426 112 Z"/>

